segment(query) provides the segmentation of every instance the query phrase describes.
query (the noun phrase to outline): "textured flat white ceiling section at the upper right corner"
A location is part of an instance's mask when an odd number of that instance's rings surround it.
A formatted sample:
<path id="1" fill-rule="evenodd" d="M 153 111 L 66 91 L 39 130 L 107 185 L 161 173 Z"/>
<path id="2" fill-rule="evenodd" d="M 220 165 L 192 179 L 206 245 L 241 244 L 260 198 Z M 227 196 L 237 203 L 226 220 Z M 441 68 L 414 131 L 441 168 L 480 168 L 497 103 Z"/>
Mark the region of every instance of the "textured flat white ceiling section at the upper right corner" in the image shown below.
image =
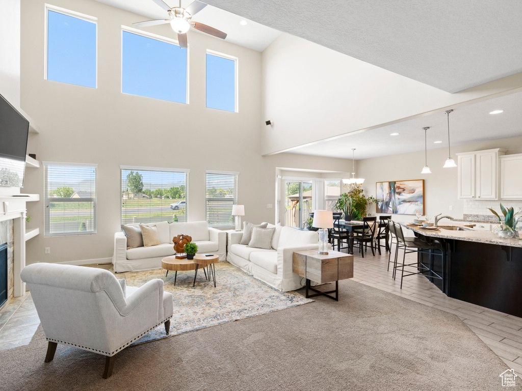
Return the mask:
<path id="1" fill-rule="evenodd" d="M 206 0 L 447 92 L 522 72 L 520 0 Z"/>

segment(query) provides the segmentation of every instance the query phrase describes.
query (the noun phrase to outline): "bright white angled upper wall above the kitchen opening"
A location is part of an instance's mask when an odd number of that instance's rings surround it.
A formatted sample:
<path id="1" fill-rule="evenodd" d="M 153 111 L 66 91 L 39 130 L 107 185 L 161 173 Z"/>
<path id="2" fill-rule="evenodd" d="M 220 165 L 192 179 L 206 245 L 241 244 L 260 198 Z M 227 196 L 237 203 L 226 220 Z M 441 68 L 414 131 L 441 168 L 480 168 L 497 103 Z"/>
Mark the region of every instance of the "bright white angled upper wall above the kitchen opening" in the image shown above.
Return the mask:
<path id="1" fill-rule="evenodd" d="M 429 61 L 429 58 L 426 58 Z M 522 74 L 450 94 L 283 33 L 263 52 L 263 154 L 522 88 Z"/>

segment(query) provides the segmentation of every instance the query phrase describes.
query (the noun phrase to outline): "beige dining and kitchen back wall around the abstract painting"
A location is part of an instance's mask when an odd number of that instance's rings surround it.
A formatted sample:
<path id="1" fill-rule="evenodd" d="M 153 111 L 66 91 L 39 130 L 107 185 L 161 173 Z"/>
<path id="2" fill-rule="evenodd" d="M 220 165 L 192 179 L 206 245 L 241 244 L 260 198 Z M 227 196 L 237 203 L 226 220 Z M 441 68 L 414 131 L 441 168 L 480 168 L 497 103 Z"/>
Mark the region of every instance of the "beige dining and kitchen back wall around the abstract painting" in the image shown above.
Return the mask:
<path id="1" fill-rule="evenodd" d="M 452 153 L 481 151 L 492 148 L 505 148 L 507 154 L 522 152 L 522 137 L 500 139 L 452 147 Z M 455 218 L 462 218 L 464 200 L 457 199 L 457 168 L 442 168 L 447 159 L 447 148 L 428 151 L 428 165 L 431 174 L 421 174 L 424 167 L 424 152 L 413 152 L 402 155 L 392 155 L 364 159 L 358 161 L 358 175 L 364 180 L 364 190 L 367 196 L 375 197 L 375 183 L 382 181 L 424 179 L 424 213 L 433 218 L 442 213 Z M 455 161 L 456 156 L 454 155 Z M 499 209 L 500 201 L 491 201 Z M 503 204 L 512 206 L 509 202 Z M 449 206 L 453 205 L 453 211 Z M 375 206 L 369 207 L 369 212 L 375 215 Z M 485 207 L 482 214 L 490 214 Z M 377 214 L 378 215 L 378 214 Z M 411 216 L 394 215 L 396 221 L 411 221 Z"/>

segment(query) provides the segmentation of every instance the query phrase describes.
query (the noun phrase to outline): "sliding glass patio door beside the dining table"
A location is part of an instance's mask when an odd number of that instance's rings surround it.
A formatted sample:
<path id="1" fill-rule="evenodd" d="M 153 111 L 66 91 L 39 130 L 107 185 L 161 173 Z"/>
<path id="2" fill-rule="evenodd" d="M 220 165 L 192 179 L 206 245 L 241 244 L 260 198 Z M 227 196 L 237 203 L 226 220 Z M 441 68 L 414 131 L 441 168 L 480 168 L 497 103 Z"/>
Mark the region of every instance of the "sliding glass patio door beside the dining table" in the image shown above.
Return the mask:
<path id="1" fill-rule="evenodd" d="M 312 182 L 284 181 L 284 225 L 303 227 L 312 211 Z"/>

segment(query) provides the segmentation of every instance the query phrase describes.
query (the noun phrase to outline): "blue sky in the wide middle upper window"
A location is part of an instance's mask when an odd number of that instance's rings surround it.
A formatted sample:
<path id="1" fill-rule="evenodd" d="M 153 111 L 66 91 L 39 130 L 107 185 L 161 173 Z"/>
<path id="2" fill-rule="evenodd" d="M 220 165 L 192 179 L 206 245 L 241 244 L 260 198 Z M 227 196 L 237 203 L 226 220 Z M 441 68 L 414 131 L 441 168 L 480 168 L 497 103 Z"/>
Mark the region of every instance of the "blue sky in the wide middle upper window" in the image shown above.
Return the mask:
<path id="1" fill-rule="evenodd" d="M 187 102 L 187 50 L 123 31 L 122 92 Z"/>

